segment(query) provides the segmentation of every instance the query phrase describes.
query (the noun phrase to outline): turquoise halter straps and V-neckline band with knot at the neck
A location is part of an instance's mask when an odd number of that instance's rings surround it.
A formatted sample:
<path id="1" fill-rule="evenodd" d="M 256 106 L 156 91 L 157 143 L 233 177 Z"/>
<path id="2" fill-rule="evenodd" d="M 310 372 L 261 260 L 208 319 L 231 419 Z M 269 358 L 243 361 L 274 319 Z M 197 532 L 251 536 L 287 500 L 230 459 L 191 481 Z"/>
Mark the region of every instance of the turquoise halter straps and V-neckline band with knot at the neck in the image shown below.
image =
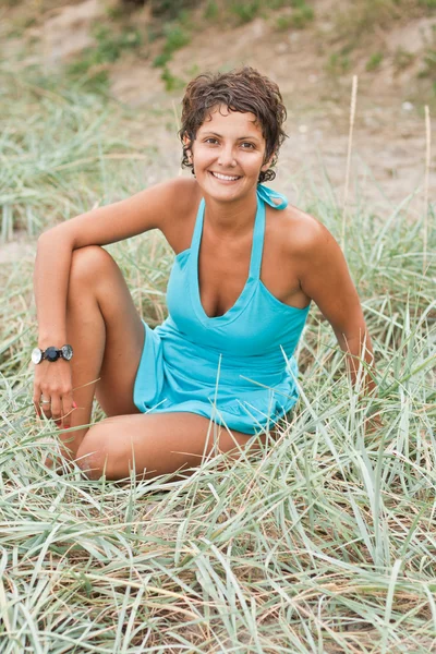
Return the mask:
<path id="1" fill-rule="evenodd" d="M 276 204 L 274 201 L 279 199 L 279 204 Z M 229 320 L 233 319 L 238 315 L 238 310 L 240 306 L 244 306 L 250 301 L 251 295 L 255 290 L 254 281 L 258 281 L 261 279 L 261 266 L 262 266 L 262 254 L 264 250 L 264 237 L 265 237 L 265 203 L 275 209 L 284 209 L 288 206 L 288 201 L 284 195 L 278 193 L 277 191 L 272 191 L 272 189 L 268 189 L 263 184 L 257 185 L 257 209 L 256 216 L 254 219 L 253 227 L 253 240 L 252 240 L 252 250 L 250 256 L 250 269 L 249 277 L 245 281 L 245 284 L 235 300 L 234 304 L 223 314 L 219 316 L 208 316 L 205 312 L 202 298 L 199 293 L 199 279 L 198 279 L 198 254 L 199 246 L 202 243 L 203 235 L 203 223 L 204 223 L 204 214 L 205 214 L 205 201 L 202 198 L 197 217 L 195 220 L 194 233 L 192 237 L 191 243 L 191 255 L 190 255 L 190 268 L 191 268 L 191 277 L 193 283 L 193 296 L 194 296 L 194 305 L 196 308 L 196 313 L 203 322 L 208 320 Z"/>

